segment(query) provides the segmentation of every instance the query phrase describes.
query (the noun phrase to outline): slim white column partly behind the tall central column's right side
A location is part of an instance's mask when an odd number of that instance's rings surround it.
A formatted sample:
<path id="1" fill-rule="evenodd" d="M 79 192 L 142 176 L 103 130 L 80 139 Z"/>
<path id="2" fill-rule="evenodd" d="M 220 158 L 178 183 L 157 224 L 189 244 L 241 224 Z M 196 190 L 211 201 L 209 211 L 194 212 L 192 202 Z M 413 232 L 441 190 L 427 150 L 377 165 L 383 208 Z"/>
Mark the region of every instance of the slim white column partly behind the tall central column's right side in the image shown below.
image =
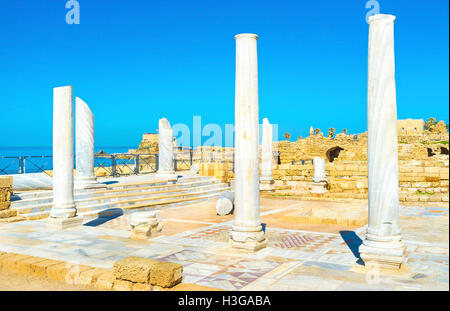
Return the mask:
<path id="1" fill-rule="evenodd" d="M 260 178 L 260 190 L 263 191 L 273 191 L 275 189 L 272 176 L 272 157 L 272 124 L 269 123 L 267 118 L 264 118 Z"/>

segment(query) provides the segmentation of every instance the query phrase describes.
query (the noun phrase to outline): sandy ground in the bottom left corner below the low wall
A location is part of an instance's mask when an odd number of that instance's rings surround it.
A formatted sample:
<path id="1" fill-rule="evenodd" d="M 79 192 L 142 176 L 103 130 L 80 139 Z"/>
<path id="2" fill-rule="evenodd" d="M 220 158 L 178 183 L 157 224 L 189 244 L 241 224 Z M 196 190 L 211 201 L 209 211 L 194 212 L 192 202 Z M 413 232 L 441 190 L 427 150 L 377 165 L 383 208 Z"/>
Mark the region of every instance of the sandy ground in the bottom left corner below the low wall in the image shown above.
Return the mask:
<path id="1" fill-rule="evenodd" d="M 0 291 L 97 291 L 94 287 L 0 272 Z"/>

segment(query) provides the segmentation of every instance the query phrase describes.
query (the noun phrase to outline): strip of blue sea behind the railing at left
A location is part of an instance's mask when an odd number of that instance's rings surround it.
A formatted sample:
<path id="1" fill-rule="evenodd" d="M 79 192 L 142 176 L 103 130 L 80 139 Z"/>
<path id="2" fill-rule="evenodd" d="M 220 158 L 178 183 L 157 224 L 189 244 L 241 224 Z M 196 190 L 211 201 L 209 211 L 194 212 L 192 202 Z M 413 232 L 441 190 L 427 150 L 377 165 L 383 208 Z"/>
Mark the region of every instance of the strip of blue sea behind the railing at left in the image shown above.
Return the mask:
<path id="1" fill-rule="evenodd" d="M 107 154 L 128 153 L 129 149 L 136 146 L 106 146 L 96 147 L 95 153 L 104 151 Z M 74 150 L 75 152 L 75 150 Z M 24 160 L 20 160 L 23 157 Z M 20 163 L 20 161 L 23 161 Z M 108 159 L 97 159 L 95 166 L 110 166 L 105 163 Z M 75 161 L 74 161 L 75 162 Z M 23 173 L 21 167 L 25 168 L 25 173 L 38 173 L 42 170 L 51 170 L 53 167 L 52 147 L 0 147 L 0 175 L 10 175 Z"/>

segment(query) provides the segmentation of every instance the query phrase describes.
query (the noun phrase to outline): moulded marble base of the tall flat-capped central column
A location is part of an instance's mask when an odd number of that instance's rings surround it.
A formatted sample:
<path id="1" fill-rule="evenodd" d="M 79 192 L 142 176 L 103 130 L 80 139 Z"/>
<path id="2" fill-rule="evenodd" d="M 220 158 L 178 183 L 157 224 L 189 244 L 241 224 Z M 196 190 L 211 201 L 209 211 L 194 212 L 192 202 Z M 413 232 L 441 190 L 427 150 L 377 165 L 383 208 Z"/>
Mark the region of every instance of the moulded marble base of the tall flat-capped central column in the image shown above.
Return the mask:
<path id="1" fill-rule="evenodd" d="M 230 247 L 254 252 L 267 246 L 267 239 L 261 226 L 255 231 L 242 229 L 232 227 L 229 240 Z"/>

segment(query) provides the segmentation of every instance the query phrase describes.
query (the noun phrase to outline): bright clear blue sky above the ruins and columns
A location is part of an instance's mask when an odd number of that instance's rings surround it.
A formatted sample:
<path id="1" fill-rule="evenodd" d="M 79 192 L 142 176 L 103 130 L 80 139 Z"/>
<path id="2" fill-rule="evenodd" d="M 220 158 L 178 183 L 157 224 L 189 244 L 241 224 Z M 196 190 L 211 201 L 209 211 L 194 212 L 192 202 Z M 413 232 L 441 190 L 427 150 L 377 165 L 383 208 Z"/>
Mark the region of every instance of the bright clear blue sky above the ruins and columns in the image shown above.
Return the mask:
<path id="1" fill-rule="evenodd" d="M 394 14 L 401 118 L 449 118 L 448 1 L 380 0 Z M 52 88 L 91 107 L 96 145 L 136 146 L 158 119 L 234 122 L 237 33 L 259 36 L 260 119 L 279 137 L 366 131 L 364 0 L 0 0 L 0 146 L 51 146 Z M 206 140 L 204 137 L 203 140 Z"/>

